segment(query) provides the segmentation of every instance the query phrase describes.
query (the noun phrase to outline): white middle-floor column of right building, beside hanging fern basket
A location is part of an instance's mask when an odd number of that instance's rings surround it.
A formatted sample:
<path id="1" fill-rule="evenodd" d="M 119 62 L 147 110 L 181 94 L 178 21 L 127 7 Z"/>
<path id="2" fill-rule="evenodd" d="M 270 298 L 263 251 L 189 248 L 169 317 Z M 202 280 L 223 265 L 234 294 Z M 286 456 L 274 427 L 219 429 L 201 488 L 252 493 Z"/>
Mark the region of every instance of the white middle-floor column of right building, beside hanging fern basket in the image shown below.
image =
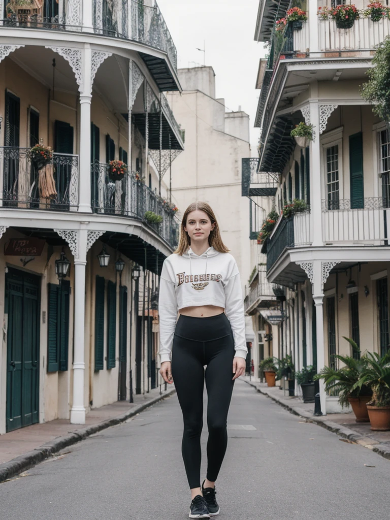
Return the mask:
<path id="1" fill-rule="evenodd" d="M 318 101 L 310 101 L 310 123 L 316 137 L 310 141 L 310 237 L 313 247 L 322 246 L 320 114 Z"/>

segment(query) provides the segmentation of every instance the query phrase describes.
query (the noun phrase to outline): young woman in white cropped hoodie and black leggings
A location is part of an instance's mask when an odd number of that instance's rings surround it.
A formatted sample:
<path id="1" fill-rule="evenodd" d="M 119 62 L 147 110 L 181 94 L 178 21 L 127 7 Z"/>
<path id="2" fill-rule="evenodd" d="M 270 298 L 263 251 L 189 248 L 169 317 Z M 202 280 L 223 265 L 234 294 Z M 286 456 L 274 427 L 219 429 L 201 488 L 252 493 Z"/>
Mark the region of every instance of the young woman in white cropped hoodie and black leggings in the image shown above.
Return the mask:
<path id="1" fill-rule="evenodd" d="M 245 370 L 248 351 L 240 275 L 209 204 L 190 204 L 183 215 L 179 246 L 162 268 L 159 314 L 160 373 L 175 383 L 183 412 L 189 517 L 210 518 L 219 513 L 215 481 L 226 452 L 233 384 Z M 207 474 L 200 486 L 204 380 L 209 439 Z"/>

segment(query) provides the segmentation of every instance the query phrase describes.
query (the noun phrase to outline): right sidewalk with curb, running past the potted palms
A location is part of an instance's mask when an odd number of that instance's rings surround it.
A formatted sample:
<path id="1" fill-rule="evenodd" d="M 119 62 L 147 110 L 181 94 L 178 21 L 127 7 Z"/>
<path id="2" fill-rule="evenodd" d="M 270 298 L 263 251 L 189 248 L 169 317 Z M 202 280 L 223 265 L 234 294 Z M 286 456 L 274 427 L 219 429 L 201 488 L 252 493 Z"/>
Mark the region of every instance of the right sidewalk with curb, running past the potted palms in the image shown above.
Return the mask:
<path id="1" fill-rule="evenodd" d="M 256 388 L 257 392 L 270 397 L 279 405 L 287 408 L 290 412 L 299 415 L 306 421 L 318 424 L 327 430 L 340 435 L 348 441 L 360 444 L 386 459 L 390 459 L 390 431 L 372 432 L 370 423 L 355 422 L 355 414 L 349 413 L 330 413 L 323 417 L 315 417 L 314 403 L 304 404 L 302 397 L 289 397 L 284 395 L 279 386 L 268 387 L 266 383 L 249 381 L 249 376 L 242 378 L 245 383 Z"/>

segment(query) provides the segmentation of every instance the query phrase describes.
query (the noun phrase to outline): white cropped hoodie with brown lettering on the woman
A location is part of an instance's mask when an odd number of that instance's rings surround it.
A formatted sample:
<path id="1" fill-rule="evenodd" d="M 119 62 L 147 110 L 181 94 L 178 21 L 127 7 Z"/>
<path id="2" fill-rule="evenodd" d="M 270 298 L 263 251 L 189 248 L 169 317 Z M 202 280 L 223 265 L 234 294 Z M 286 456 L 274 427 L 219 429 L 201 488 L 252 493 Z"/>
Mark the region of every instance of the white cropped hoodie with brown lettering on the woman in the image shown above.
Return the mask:
<path id="1" fill-rule="evenodd" d="M 224 307 L 230 321 L 236 356 L 246 358 L 244 304 L 240 275 L 230 253 L 210 247 L 201 255 L 191 248 L 183 256 L 165 258 L 159 295 L 160 360 L 171 360 L 177 313 L 184 307 Z"/>

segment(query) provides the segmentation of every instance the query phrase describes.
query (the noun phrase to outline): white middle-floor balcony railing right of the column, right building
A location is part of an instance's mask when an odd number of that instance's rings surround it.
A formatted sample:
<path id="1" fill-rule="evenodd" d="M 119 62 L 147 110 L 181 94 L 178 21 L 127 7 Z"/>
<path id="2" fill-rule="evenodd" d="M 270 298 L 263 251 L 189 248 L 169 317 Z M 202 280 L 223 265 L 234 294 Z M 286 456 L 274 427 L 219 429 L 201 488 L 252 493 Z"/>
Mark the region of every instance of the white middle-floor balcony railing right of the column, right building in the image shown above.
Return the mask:
<path id="1" fill-rule="evenodd" d="M 387 245 L 390 209 L 383 197 L 322 202 L 324 243 Z M 354 207 L 355 206 L 355 207 Z M 356 207 L 363 206 L 363 207 Z"/>

